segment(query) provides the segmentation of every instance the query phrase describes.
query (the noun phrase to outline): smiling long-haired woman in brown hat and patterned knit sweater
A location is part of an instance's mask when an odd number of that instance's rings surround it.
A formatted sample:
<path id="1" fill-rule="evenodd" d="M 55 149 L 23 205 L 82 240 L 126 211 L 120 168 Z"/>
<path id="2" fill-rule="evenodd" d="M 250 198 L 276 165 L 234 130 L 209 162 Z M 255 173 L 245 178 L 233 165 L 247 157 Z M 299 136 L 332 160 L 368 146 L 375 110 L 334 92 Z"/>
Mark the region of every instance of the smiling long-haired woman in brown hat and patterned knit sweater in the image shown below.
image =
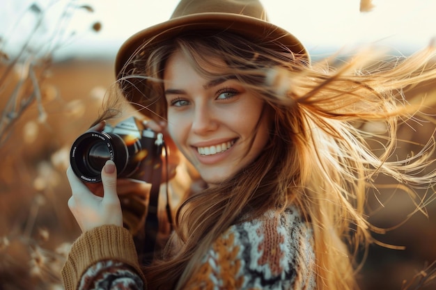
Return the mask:
<path id="1" fill-rule="evenodd" d="M 393 89 L 435 79 L 432 56 L 372 74 L 354 73 L 364 58 L 328 71 L 258 1 L 180 1 L 168 22 L 125 42 L 116 72 L 125 98 L 168 131 L 206 186 L 178 208 L 162 257 L 141 267 L 114 163 L 102 170 L 103 198 L 68 170 L 84 234 L 65 289 L 356 289 L 356 252 L 375 229 L 364 213 L 375 175 L 408 191 L 436 181 L 407 174 L 433 161 L 433 143 L 389 160 L 398 118 L 416 113 Z M 364 120 L 386 125 L 381 154 L 357 126 Z"/>

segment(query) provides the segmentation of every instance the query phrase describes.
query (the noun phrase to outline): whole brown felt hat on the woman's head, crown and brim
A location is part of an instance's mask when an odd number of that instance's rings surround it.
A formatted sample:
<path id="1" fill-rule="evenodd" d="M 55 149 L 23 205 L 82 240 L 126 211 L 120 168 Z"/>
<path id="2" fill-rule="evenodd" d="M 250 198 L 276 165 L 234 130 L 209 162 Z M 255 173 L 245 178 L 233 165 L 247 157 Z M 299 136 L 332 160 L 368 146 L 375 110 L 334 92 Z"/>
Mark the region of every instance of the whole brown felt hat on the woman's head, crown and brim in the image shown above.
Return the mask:
<path id="1" fill-rule="evenodd" d="M 146 47 L 196 31 L 200 35 L 202 31 L 228 31 L 277 50 L 288 49 L 310 61 L 306 49 L 294 35 L 268 22 L 258 0 L 181 0 L 168 21 L 143 29 L 123 43 L 115 61 L 117 79 L 129 75 L 130 61 L 139 49 L 146 58 Z M 143 103 L 140 99 L 143 95 L 131 91 L 134 86 L 120 86 L 130 101 Z"/>

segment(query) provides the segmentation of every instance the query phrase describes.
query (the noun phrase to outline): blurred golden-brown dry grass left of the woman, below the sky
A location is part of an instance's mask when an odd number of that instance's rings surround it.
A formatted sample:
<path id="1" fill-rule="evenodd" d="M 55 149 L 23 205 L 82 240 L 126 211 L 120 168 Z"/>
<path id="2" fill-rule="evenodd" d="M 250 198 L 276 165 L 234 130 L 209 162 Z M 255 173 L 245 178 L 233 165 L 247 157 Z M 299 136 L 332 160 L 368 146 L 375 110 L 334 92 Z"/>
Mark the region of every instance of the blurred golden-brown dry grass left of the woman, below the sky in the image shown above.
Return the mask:
<path id="1" fill-rule="evenodd" d="M 61 287 L 61 265 L 79 234 L 67 207 L 70 145 L 95 119 L 113 70 L 63 63 L 49 71 L 40 83 L 47 118 L 40 122 L 31 104 L 0 147 L 0 289 Z"/>

